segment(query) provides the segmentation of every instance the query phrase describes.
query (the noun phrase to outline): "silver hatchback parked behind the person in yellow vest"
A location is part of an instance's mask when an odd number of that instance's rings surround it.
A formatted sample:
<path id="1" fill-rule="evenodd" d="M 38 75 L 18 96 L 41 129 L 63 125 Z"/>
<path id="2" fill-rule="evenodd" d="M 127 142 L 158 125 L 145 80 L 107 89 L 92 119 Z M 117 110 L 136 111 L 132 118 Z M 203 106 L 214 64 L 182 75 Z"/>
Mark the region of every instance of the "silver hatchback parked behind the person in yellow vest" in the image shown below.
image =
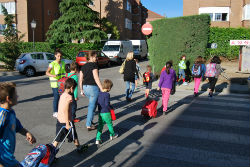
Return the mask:
<path id="1" fill-rule="evenodd" d="M 15 68 L 21 74 L 31 77 L 36 72 L 45 72 L 49 64 L 55 59 L 54 54 L 47 52 L 22 53 L 16 60 Z M 68 69 L 72 60 L 63 59 L 63 61 L 66 64 L 66 69 Z"/>

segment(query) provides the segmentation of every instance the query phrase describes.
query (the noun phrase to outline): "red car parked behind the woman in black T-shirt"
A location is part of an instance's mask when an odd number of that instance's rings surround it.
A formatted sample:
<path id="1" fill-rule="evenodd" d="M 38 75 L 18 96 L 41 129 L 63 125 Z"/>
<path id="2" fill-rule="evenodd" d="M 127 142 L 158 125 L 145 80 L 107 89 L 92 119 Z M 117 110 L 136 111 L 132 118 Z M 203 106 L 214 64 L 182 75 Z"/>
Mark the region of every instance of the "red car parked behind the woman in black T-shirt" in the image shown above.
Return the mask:
<path id="1" fill-rule="evenodd" d="M 76 56 L 76 63 L 79 65 L 79 66 L 83 66 L 85 63 L 87 63 L 87 53 L 89 51 L 88 50 L 85 50 L 85 51 L 80 51 L 77 56 Z M 111 61 L 109 59 L 108 56 L 106 56 L 103 52 L 101 51 L 97 51 L 97 64 L 99 67 L 103 67 L 103 66 L 106 66 L 106 67 L 110 67 L 111 66 Z"/>

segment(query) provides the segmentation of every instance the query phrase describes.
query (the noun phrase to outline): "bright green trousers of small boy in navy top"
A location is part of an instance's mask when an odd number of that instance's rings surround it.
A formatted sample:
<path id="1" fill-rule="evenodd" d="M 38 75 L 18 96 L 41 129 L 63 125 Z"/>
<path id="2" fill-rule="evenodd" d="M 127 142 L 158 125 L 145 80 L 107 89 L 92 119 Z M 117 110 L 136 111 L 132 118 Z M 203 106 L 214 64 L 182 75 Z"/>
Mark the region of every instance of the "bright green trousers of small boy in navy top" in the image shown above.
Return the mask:
<path id="1" fill-rule="evenodd" d="M 103 126 L 105 124 L 107 124 L 107 126 L 108 126 L 110 136 L 115 135 L 110 112 L 108 112 L 108 113 L 100 113 L 99 114 L 99 120 L 98 120 L 98 128 L 97 128 L 96 140 L 101 140 Z"/>

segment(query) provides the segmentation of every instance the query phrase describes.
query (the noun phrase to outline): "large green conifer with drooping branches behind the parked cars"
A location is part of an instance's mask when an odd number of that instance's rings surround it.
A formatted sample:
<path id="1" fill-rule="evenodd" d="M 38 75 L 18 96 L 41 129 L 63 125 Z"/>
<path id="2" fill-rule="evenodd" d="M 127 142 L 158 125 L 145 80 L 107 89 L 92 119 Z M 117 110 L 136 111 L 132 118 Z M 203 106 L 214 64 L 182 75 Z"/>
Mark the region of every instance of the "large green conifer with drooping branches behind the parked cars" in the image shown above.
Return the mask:
<path id="1" fill-rule="evenodd" d="M 88 5 L 92 0 L 62 0 L 59 4 L 61 16 L 54 20 L 47 32 L 50 43 L 70 43 L 84 39 L 98 42 L 106 38 L 106 33 L 97 27 L 98 12 Z"/>

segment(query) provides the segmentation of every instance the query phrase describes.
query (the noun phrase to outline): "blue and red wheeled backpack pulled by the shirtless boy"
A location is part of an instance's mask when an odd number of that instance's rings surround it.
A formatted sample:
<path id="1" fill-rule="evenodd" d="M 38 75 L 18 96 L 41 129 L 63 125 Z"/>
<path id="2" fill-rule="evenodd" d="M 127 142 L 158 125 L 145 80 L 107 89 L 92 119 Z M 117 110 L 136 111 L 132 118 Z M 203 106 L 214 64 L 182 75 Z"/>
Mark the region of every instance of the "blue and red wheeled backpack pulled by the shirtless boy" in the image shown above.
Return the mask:
<path id="1" fill-rule="evenodd" d="M 40 144 L 33 148 L 21 162 L 25 167 L 49 167 L 55 159 L 57 150 L 52 144 Z"/>

